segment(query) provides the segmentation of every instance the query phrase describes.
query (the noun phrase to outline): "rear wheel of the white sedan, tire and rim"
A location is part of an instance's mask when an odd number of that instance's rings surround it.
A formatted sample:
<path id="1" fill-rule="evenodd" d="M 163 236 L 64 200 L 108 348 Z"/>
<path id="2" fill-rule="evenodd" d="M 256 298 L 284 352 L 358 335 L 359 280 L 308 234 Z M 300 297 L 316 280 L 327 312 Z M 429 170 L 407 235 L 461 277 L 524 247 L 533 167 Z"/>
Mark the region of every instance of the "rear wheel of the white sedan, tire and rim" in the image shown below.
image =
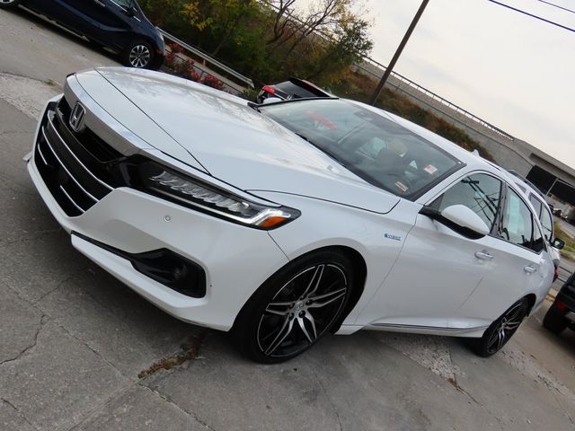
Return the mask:
<path id="1" fill-rule="evenodd" d="M 499 319 L 491 323 L 481 339 L 472 341 L 474 352 L 482 357 L 489 357 L 499 352 L 513 337 L 521 322 L 526 318 L 528 310 L 529 303 L 526 298 L 511 305 Z"/>

